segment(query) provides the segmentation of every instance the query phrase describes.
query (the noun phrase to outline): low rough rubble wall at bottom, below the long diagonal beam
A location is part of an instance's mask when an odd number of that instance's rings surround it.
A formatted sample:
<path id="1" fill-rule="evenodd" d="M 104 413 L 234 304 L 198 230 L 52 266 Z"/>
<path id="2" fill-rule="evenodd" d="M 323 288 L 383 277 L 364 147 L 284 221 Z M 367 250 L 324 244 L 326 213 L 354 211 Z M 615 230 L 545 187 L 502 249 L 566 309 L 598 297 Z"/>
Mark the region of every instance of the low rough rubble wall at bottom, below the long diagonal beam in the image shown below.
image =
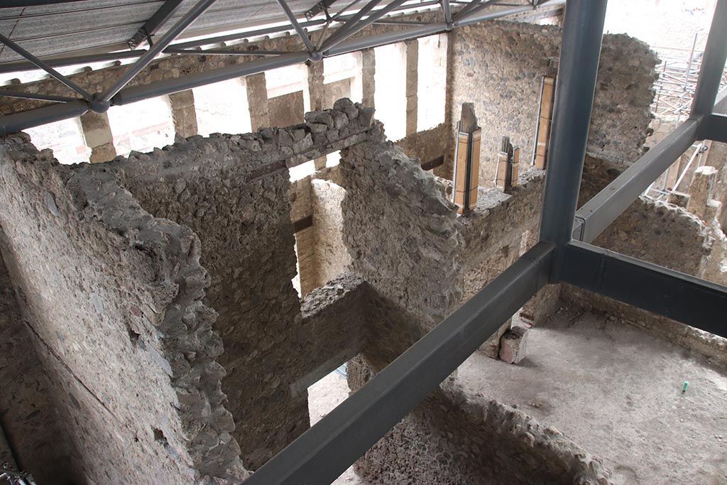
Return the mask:
<path id="1" fill-rule="evenodd" d="M 348 374 L 353 390 L 373 377 L 362 358 Z M 560 431 L 469 395 L 452 378 L 374 444 L 356 471 L 385 484 L 611 484 L 603 462 Z"/>

